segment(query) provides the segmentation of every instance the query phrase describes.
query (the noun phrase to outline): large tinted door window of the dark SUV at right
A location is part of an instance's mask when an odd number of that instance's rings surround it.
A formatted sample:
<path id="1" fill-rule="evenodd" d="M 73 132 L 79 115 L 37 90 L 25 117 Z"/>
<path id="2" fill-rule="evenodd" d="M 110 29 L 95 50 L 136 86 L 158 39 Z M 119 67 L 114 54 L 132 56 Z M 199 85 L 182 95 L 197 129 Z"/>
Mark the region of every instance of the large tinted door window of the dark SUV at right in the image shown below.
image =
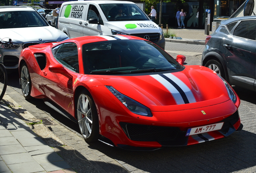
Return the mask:
<path id="1" fill-rule="evenodd" d="M 256 20 L 244 20 L 235 28 L 234 36 L 255 40 Z"/>

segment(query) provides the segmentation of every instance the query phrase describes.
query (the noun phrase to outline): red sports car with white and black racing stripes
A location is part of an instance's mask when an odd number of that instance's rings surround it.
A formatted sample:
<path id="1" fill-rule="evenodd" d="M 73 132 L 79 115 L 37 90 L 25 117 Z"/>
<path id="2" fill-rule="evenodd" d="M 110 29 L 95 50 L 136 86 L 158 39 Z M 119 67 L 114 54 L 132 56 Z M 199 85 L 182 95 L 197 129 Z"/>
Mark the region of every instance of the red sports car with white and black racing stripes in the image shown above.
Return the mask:
<path id="1" fill-rule="evenodd" d="M 240 100 L 204 66 L 184 66 L 143 38 L 84 36 L 23 49 L 26 99 L 78 122 L 87 142 L 152 150 L 227 137 L 242 129 Z"/>

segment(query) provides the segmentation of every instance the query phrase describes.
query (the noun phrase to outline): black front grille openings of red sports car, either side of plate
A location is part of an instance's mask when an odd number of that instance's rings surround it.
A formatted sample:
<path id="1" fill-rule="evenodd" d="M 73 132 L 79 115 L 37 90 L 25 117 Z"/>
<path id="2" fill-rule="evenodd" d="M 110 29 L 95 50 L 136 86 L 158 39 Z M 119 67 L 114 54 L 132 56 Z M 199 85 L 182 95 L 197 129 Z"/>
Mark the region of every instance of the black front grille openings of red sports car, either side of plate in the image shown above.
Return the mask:
<path id="1" fill-rule="evenodd" d="M 238 120 L 239 114 L 236 111 L 233 115 L 219 122 L 224 122 L 222 129 L 219 131 L 223 134 L 227 133 L 229 128 L 233 128 L 233 125 Z M 157 141 L 162 146 L 183 146 L 188 143 L 188 137 L 185 136 L 186 131 L 181 131 L 178 127 L 139 125 L 124 122 L 120 122 L 120 126 L 132 141 Z"/>

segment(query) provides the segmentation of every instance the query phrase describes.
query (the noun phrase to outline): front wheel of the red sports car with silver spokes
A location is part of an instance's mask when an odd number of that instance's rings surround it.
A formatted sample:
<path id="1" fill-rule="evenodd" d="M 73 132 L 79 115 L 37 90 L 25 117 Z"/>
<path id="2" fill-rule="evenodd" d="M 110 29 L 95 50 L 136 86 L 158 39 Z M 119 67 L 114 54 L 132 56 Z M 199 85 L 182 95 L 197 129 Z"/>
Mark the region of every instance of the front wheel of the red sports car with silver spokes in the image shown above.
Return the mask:
<path id="1" fill-rule="evenodd" d="M 91 94 L 87 90 L 79 93 L 76 99 L 76 117 L 79 129 L 85 141 L 95 142 L 99 139 L 99 117 Z"/>

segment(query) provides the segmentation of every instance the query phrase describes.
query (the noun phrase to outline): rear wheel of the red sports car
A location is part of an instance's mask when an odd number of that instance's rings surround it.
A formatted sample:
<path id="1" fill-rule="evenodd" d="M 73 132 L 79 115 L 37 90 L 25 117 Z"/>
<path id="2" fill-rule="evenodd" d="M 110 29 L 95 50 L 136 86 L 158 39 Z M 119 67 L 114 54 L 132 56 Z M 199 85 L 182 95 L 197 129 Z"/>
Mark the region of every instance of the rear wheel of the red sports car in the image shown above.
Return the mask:
<path id="1" fill-rule="evenodd" d="M 22 94 L 25 97 L 25 99 L 32 99 L 33 97 L 31 96 L 31 78 L 26 63 L 23 63 L 21 66 L 20 84 Z"/>

